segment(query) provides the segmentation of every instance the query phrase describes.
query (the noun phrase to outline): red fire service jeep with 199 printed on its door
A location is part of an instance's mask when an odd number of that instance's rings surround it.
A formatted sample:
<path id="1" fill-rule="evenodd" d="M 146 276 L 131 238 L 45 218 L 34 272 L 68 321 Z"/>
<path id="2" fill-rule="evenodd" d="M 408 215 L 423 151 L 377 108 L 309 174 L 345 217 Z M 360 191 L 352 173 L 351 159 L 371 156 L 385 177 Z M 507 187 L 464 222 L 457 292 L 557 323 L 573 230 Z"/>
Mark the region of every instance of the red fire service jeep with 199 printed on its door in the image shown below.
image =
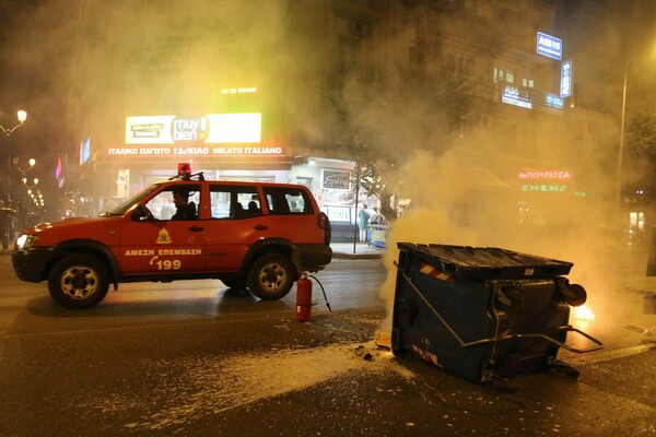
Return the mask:
<path id="1" fill-rule="evenodd" d="M 173 192 L 180 190 L 197 211 L 190 220 L 172 220 Z M 218 279 L 279 299 L 301 272 L 331 261 L 330 236 L 330 221 L 306 187 L 181 172 L 101 217 L 24 229 L 12 263 L 19 279 L 47 281 L 67 308 L 93 307 L 109 284 L 189 279 Z"/>

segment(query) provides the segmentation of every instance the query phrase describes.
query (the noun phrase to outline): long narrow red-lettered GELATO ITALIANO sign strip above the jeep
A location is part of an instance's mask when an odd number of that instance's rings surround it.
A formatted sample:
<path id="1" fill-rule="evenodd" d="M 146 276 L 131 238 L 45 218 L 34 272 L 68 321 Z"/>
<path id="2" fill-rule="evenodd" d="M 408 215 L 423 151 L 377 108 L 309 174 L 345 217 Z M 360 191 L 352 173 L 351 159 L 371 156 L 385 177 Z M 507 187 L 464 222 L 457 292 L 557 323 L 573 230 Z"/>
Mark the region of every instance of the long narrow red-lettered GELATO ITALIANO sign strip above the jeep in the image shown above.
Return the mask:
<path id="1" fill-rule="evenodd" d="M 284 156 L 279 145 L 214 145 L 214 146 L 118 146 L 107 149 L 109 156 Z"/>

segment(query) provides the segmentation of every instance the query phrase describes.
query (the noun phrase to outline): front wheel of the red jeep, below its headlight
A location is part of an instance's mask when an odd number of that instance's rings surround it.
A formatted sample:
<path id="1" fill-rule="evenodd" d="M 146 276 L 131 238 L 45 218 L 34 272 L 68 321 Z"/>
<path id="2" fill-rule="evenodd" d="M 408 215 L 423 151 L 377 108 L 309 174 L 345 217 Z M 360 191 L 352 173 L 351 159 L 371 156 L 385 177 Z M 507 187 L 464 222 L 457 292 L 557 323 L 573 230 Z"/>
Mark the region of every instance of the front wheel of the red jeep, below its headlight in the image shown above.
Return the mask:
<path id="1" fill-rule="evenodd" d="M 107 268 L 91 255 L 70 255 L 48 275 L 48 292 L 65 308 L 91 308 L 105 298 L 108 288 Z"/>

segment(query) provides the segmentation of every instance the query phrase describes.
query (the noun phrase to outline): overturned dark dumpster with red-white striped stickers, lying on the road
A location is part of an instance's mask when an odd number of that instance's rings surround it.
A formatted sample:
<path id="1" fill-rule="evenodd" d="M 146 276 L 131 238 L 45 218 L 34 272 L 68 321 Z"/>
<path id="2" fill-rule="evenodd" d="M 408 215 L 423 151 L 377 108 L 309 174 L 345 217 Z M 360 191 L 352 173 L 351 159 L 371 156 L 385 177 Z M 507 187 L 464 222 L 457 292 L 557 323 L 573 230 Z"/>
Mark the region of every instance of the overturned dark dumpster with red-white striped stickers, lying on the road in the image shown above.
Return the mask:
<path id="1" fill-rule="evenodd" d="M 571 262 L 500 248 L 399 243 L 391 350 L 411 352 L 478 382 L 561 368 L 564 347 L 601 342 L 569 324 L 585 290 L 564 275 Z M 567 333 L 590 347 L 565 343 Z"/>

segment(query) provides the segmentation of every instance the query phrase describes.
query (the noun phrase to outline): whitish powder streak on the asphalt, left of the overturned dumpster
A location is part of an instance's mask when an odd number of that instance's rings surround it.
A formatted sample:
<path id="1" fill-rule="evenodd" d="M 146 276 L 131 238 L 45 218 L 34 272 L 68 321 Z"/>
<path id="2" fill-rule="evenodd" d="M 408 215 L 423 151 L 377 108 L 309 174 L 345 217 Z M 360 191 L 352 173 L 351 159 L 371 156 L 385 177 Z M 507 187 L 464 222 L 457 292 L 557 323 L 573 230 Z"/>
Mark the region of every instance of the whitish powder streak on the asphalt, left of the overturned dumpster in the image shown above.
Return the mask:
<path id="1" fill-rule="evenodd" d="M 91 403 L 116 416 L 124 416 L 127 410 L 133 413 L 134 408 L 147 409 L 149 413 L 141 415 L 148 418 L 125 424 L 130 429 L 171 427 L 173 430 L 207 415 L 303 390 L 350 373 L 413 377 L 413 373 L 399 365 L 388 350 L 378 347 L 373 341 L 279 349 L 222 359 L 181 357 L 143 365 L 161 380 L 145 402 L 114 393 Z M 187 387 L 187 390 L 180 392 L 179 387 Z"/>

